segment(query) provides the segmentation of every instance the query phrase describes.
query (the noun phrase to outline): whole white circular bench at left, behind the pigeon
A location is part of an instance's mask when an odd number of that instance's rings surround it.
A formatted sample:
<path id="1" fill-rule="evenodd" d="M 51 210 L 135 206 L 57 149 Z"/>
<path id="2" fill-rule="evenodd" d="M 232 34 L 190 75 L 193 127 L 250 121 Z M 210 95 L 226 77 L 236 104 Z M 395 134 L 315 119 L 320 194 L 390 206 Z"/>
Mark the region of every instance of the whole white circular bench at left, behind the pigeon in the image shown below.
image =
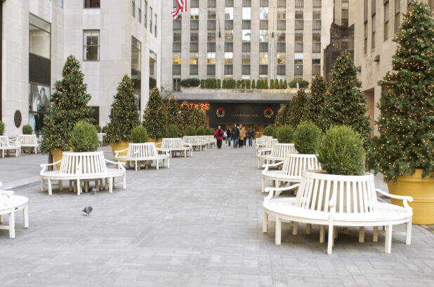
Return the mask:
<path id="1" fill-rule="evenodd" d="M 47 171 L 47 167 L 56 165 L 60 162 L 60 170 Z M 116 165 L 116 168 L 107 168 L 106 163 Z M 71 183 L 77 182 L 77 195 L 81 193 L 81 183 L 85 181 L 96 181 L 96 188 L 100 179 L 108 180 L 109 192 L 112 193 L 114 178 L 124 177 L 124 189 L 126 189 L 126 171 L 124 162 L 112 162 L 104 158 L 102 151 L 91 153 L 63 152 L 62 160 L 48 165 L 41 165 L 41 191 L 44 191 L 44 179 L 48 181 L 48 195 L 52 195 L 52 180 L 58 180 L 59 189 L 63 190 L 63 180 Z"/>

